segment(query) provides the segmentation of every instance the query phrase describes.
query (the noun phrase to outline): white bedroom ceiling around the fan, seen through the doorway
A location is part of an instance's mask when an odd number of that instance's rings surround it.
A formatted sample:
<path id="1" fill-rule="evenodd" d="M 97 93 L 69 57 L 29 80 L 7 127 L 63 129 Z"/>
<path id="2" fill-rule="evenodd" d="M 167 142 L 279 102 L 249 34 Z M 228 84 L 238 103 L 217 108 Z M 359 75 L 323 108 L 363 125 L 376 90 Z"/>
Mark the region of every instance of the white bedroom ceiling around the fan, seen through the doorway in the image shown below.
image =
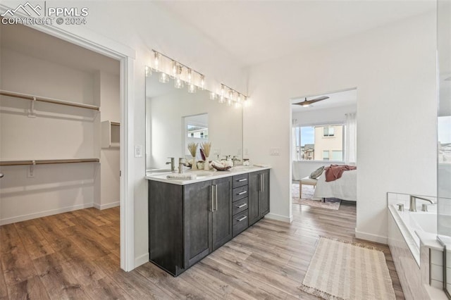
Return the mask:
<path id="1" fill-rule="evenodd" d="M 319 109 L 325 108 L 335 108 L 341 106 L 357 106 L 357 89 L 350 89 L 342 92 L 333 92 L 330 94 L 321 94 L 316 96 L 307 96 L 307 100 L 312 100 L 319 98 L 321 96 L 328 96 L 329 99 L 318 101 L 314 104 L 311 104 L 307 107 L 303 107 L 300 105 L 296 105 L 295 103 L 299 103 L 304 101 L 305 97 L 299 97 L 292 99 L 291 108 L 293 113 L 300 113 L 304 111 L 317 111 Z"/>

